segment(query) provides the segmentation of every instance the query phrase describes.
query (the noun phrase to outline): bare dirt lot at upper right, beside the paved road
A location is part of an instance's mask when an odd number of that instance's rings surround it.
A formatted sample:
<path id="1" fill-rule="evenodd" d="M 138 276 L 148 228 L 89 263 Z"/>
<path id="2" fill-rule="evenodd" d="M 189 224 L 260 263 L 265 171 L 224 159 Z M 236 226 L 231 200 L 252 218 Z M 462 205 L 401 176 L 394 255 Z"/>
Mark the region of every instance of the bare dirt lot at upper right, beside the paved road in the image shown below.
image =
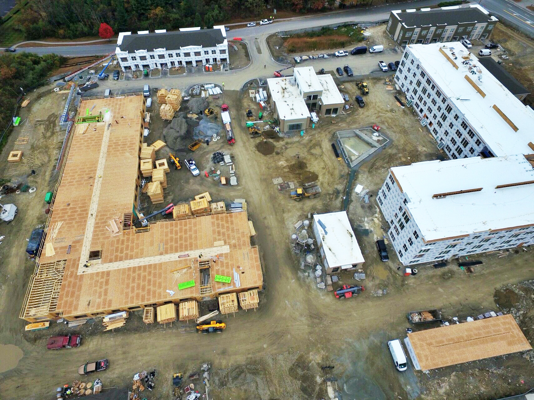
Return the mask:
<path id="1" fill-rule="evenodd" d="M 532 90 L 534 87 L 534 41 L 502 23 L 495 26 L 491 40 L 504 47 L 509 57 L 508 60 L 501 59 L 502 66 L 527 89 Z M 534 105 L 532 94 L 528 95 L 524 102 L 532 107 Z"/>

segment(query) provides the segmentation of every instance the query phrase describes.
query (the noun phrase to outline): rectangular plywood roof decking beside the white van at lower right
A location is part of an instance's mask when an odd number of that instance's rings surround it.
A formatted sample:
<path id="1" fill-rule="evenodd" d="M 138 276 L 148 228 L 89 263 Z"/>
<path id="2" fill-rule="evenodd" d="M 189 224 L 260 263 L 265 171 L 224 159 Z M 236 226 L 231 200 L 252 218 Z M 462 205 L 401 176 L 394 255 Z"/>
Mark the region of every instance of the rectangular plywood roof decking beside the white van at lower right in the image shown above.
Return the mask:
<path id="1" fill-rule="evenodd" d="M 423 371 L 532 348 L 509 314 L 413 332 L 408 338 Z"/>

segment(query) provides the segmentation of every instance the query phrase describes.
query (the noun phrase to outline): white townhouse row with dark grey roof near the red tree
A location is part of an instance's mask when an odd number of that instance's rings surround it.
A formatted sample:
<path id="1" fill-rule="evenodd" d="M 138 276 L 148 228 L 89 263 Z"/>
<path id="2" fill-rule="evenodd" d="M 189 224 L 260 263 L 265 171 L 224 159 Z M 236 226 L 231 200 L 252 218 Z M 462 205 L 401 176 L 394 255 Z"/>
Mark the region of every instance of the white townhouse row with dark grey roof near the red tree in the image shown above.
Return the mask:
<path id="1" fill-rule="evenodd" d="M 181 28 L 121 32 L 115 54 L 123 71 L 227 63 L 228 42 L 224 26 L 213 29 Z"/>

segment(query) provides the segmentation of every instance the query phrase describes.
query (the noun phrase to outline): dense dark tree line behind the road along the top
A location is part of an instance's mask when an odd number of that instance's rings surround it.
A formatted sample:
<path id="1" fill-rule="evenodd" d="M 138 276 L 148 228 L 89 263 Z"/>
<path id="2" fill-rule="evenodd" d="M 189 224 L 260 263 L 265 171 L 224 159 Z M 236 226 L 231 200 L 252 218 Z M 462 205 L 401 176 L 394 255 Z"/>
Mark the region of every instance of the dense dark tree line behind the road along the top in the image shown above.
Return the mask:
<path id="1" fill-rule="evenodd" d="M 268 10 L 266 2 L 269 10 L 296 12 L 329 9 L 335 4 L 335 0 L 32 0 L 21 10 L 17 29 L 32 40 L 96 36 L 101 23 L 115 33 L 211 27 L 232 19 L 256 18 Z"/>

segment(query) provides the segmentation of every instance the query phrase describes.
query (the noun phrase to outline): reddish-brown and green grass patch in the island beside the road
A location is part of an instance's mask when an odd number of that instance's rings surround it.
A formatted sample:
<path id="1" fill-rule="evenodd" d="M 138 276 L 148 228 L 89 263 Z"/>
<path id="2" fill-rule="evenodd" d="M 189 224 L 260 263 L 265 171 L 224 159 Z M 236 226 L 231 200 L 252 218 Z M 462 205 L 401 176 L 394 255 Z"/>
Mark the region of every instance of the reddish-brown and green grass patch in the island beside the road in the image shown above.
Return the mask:
<path id="1" fill-rule="evenodd" d="M 337 29 L 323 28 L 317 31 L 292 35 L 284 41 L 289 53 L 339 49 L 363 41 L 361 29 L 355 26 L 343 26 Z"/>

